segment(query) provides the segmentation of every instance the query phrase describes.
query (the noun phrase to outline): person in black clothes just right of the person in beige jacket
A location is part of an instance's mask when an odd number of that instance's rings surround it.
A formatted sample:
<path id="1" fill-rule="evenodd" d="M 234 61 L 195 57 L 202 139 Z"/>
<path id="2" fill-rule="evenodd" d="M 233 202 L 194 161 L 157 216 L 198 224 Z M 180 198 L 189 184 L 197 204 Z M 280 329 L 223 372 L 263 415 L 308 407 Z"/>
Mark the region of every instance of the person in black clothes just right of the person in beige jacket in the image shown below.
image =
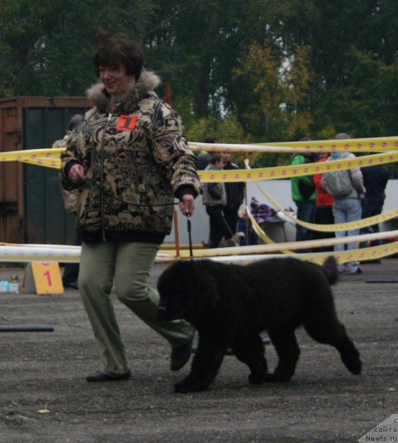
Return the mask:
<path id="1" fill-rule="evenodd" d="M 237 170 L 240 169 L 235 163 L 231 163 L 230 152 L 220 152 L 222 159 L 224 159 L 224 170 Z M 225 183 L 225 192 L 227 193 L 227 203 L 222 206 L 222 213 L 224 214 L 225 221 L 229 226 L 229 230 L 225 239 L 230 239 L 236 234 L 236 228 L 238 225 L 238 211 L 240 205 L 245 198 L 245 183 L 242 181 L 231 181 Z"/>

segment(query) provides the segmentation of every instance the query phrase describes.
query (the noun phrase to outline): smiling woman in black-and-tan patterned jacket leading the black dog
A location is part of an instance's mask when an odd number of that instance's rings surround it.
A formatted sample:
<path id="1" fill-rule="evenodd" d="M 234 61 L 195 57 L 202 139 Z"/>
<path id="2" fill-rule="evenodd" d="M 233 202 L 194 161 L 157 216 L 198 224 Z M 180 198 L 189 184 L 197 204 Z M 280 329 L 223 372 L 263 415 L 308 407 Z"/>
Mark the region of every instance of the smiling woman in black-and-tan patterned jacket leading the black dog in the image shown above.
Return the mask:
<path id="1" fill-rule="evenodd" d="M 97 33 L 93 107 L 61 154 L 60 179 L 79 189 L 76 224 L 82 234 L 79 291 L 91 321 L 101 366 L 87 381 L 131 377 L 111 290 L 171 345 L 171 370 L 191 356 L 193 326 L 158 318 L 158 291 L 149 275 L 173 206 L 193 214 L 200 192 L 196 156 L 180 115 L 154 92 L 160 79 L 143 67 L 138 44 Z"/>

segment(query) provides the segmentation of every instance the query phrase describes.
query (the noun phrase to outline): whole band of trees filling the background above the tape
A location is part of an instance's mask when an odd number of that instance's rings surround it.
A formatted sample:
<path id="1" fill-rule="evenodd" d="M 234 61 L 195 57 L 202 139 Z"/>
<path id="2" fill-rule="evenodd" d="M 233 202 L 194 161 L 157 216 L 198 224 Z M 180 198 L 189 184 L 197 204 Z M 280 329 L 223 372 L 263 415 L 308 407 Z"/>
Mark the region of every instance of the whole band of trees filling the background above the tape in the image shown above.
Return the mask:
<path id="1" fill-rule="evenodd" d="M 0 0 L 0 97 L 84 95 L 98 28 L 144 46 L 190 137 L 398 132 L 396 0 Z"/>

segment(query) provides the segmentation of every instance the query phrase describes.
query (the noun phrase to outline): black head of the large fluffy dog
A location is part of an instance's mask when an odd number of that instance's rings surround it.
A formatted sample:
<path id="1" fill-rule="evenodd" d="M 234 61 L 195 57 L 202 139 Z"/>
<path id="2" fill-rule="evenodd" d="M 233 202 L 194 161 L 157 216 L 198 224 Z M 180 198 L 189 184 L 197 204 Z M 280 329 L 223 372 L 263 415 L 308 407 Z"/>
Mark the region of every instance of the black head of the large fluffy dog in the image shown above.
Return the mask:
<path id="1" fill-rule="evenodd" d="M 209 272 L 208 260 L 180 260 L 160 275 L 158 314 L 163 320 L 198 324 L 216 309 L 218 283 Z"/>

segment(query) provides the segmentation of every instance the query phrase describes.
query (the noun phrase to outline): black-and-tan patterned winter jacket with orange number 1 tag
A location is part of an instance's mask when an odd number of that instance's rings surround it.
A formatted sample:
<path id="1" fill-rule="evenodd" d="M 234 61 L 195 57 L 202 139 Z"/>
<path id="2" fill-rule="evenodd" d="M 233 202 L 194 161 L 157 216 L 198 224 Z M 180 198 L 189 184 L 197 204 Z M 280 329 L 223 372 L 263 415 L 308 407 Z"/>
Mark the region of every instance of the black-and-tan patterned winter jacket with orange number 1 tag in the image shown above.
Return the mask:
<path id="1" fill-rule="evenodd" d="M 70 134 L 60 172 L 72 190 L 71 166 L 84 167 L 76 217 L 83 241 L 161 243 L 171 232 L 174 198 L 200 191 L 182 120 L 153 92 L 159 82 L 143 71 L 114 113 L 102 83 L 88 90 L 94 107 Z"/>

